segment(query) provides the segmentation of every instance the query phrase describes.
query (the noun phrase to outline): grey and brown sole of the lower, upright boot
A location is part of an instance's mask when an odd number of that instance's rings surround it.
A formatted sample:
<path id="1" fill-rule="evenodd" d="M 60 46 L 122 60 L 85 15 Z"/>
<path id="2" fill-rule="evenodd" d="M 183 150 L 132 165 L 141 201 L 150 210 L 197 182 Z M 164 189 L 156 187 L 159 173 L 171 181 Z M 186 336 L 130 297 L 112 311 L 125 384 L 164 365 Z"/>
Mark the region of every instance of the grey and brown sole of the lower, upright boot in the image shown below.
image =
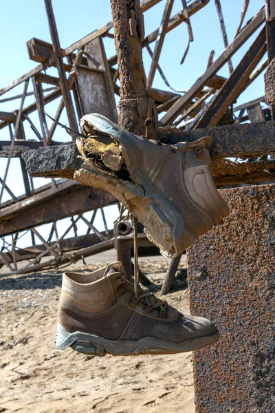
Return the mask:
<path id="1" fill-rule="evenodd" d="M 103 357 L 106 353 L 113 356 L 128 356 L 138 354 L 175 354 L 188 352 L 211 346 L 219 340 L 218 330 L 210 335 L 195 337 L 173 343 L 155 337 L 144 337 L 138 341 L 113 341 L 85 332 L 67 332 L 58 323 L 56 348 L 65 350 L 72 347 L 77 352 Z"/>

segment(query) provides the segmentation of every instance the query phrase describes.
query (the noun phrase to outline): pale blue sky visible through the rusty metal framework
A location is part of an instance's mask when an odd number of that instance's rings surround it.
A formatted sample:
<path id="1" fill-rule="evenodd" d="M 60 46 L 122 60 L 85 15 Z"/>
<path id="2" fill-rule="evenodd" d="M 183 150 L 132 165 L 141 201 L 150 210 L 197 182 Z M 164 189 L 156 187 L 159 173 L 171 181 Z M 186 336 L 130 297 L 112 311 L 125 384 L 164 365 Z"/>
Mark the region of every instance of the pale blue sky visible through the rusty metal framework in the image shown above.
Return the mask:
<path id="1" fill-rule="evenodd" d="M 75 41 L 78 41 L 89 32 L 96 30 L 111 20 L 111 8 L 109 0 L 52 0 L 54 15 L 61 47 L 67 47 Z M 146 34 L 155 30 L 162 19 L 165 1 L 161 1 L 157 6 L 148 10 L 144 14 Z M 245 22 L 248 21 L 264 5 L 264 0 L 250 0 Z M 229 43 L 232 41 L 236 28 L 239 25 L 243 0 L 221 0 L 225 27 L 228 32 Z M 181 0 L 175 0 L 172 15 L 182 8 Z M 28 70 L 36 67 L 38 63 L 28 59 L 26 41 L 36 37 L 43 41 L 51 42 L 50 30 L 47 23 L 45 4 L 43 0 L 13 0 L 1 2 L 1 65 L 0 65 L 0 87 L 10 83 Z M 172 32 L 166 35 L 162 55 L 159 64 L 166 74 L 171 86 L 176 89 L 188 89 L 196 79 L 206 70 L 208 56 L 212 49 L 215 50 L 217 59 L 223 52 L 223 40 L 219 28 L 219 19 L 217 16 L 214 0 L 210 0 L 202 10 L 197 12 L 191 18 L 194 42 L 190 45 L 190 51 L 183 65 L 180 65 L 181 57 L 184 54 L 188 43 L 188 32 L 186 24 L 182 23 Z M 234 67 L 239 63 L 243 54 L 248 50 L 249 45 L 255 39 L 256 34 L 249 39 L 243 47 L 233 56 L 232 62 Z M 104 39 L 104 45 L 107 51 L 107 57 L 112 56 L 115 52 L 112 39 Z M 151 44 L 153 48 L 153 44 Z M 266 56 L 265 56 L 266 58 Z M 144 66 L 148 73 L 151 59 L 146 50 L 144 50 Z M 47 73 L 57 76 L 56 69 L 52 68 Z M 228 65 L 225 65 L 219 74 L 228 76 Z M 162 78 L 157 73 L 153 87 L 167 89 Z M 32 90 L 32 85 L 29 86 Z M 23 91 L 23 84 L 13 89 L 3 97 L 20 94 Z M 238 103 L 258 98 L 264 94 L 263 74 L 240 96 Z M 26 99 L 26 105 L 32 103 L 33 98 Z M 12 111 L 19 109 L 20 100 L 9 103 L 0 103 L 0 111 Z M 54 116 L 56 103 L 47 105 L 47 112 Z M 64 111 L 65 112 L 65 111 Z M 35 120 L 35 115 L 34 120 Z M 66 122 L 65 113 L 61 118 Z M 8 129 L 8 128 L 5 128 Z M 27 129 L 27 133 L 31 133 Z M 69 136 L 59 129 L 60 140 L 69 140 Z M 0 139 L 7 139 L 5 131 L 0 131 Z M 0 176 L 3 178 L 5 171 L 5 160 L 0 160 Z M 16 195 L 23 192 L 23 182 L 20 180 L 18 173 L 18 160 L 12 160 L 13 171 L 9 173 L 8 184 Z M 36 178 L 36 186 L 44 184 L 46 180 Z M 8 199 L 5 195 L 4 199 Z M 111 214 L 112 215 L 112 214 Z M 110 215 L 110 220 L 113 217 Z M 111 222 L 111 221 L 110 221 Z"/>

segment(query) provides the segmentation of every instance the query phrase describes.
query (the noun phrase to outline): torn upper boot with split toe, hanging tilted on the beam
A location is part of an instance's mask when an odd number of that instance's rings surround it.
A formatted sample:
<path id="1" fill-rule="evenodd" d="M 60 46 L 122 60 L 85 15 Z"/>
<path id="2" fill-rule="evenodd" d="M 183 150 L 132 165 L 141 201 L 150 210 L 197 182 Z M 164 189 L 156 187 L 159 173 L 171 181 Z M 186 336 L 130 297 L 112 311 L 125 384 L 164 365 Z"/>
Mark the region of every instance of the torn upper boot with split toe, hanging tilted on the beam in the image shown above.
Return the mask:
<path id="1" fill-rule="evenodd" d="M 228 215 L 210 171 L 212 138 L 165 145 L 99 114 L 84 116 L 80 127 L 88 137 L 77 139 L 85 162 L 74 179 L 113 193 L 162 255 L 177 257 Z"/>

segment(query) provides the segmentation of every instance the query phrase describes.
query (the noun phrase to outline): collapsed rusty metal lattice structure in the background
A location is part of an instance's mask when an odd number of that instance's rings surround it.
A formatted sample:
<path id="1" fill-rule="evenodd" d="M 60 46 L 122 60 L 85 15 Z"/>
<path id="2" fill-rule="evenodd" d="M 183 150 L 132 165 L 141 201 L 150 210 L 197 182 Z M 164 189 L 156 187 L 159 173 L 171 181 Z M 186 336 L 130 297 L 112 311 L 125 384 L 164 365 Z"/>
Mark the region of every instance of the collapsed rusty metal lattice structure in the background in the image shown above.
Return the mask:
<path id="1" fill-rule="evenodd" d="M 272 119 L 273 109 L 267 105 L 264 96 L 245 105 L 235 105 L 236 98 L 267 67 L 268 59 L 259 63 L 267 53 L 268 30 L 272 32 L 273 28 L 264 7 L 246 25 L 243 24 L 248 0 L 244 1 L 241 21 L 230 44 L 221 3 L 219 0 L 211 0 L 215 1 L 217 6 L 225 50 L 214 61 L 211 52 L 206 71 L 188 91 L 175 92 L 170 87 L 159 65 L 165 36 L 181 23 L 186 23 L 189 43 L 192 42 L 192 15 L 207 7 L 209 1 L 194 0 L 188 4 L 182 1 L 183 9 L 174 16 L 171 15 L 173 0 L 144 0 L 142 3 L 143 12 L 160 2 L 164 7 L 159 28 L 144 36 L 142 41 L 142 47 L 146 48 L 151 56 L 146 87 L 148 96 L 155 101 L 159 127 L 174 126 L 178 131 L 185 131 L 187 134 L 188 131 L 195 132 L 196 129 L 206 127 L 237 127 L 248 121 L 254 123 Z M 50 123 L 45 116 L 47 105 L 54 103 L 55 119 L 60 120 L 62 116 L 67 116 L 69 127 L 74 130 L 78 130 L 78 119 L 91 112 L 104 114 L 118 122 L 115 105 L 115 94 L 120 94 L 117 56 L 107 58 L 103 41 L 104 37 L 114 38 L 111 31 L 113 22 L 61 49 L 50 1 L 45 1 L 45 4 L 52 44 L 39 39 L 28 41 L 30 59 L 39 62 L 39 65 L 0 89 L 1 104 L 15 99 L 19 102 L 14 111 L 0 112 L 0 134 L 3 136 L 0 140 L 0 156 L 6 160 L 5 173 L 0 180 L 0 266 L 10 273 L 24 273 L 84 260 L 87 255 L 113 248 L 114 244 L 113 229 L 109 229 L 104 213 L 106 207 L 118 204 L 113 195 L 66 179 L 72 179 L 70 169 L 64 178 L 51 178 L 43 187 L 36 187 L 21 158 L 21 154 L 28 149 L 61 144 L 60 129 L 56 129 L 56 123 Z M 234 68 L 232 55 L 261 27 L 262 30 L 239 65 Z M 181 63 L 184 63 L 188 47 Z M 272 47 L 269 47 L 269 59 L 274 57 L 271 50 Z M 230 71 L 228 78 L 217 75 L 225 64 L 228 64 Z M 58 76 L 47 73 L 52 67 L 56 67 Z M 152 87 L 156 72 L 162 76 L 167 90 Z M 9 92 L 13 89 L 17 91 L 19 85 L 23 85 L 23 93 L 10 96 Z M 25 102 L 30 97 L 34 98 L 34 101 L 26 105 Z M 14 160 L 20 164 L 23 182 L 21 195 L 14 195 L 14 189 L 7 183 Z M 248 156 L 246 160 L 248 162 L 245 163 L 219 158 L 213 160 L 212 170 L 216 183 L 227 185 L 274 179 L 272 156 Z M 72 160 L 72 163 L 75 161 L 76 159 Z M 101 214 L 104 231 L 100 231 L 94 224 L 98 214 Z M 58 223 L 65 219 L 67 228 L 61 234 Z M 86 226 L 84 235 L 78 235 L 80 222 Z M 45 224 L 47 229 L 44 228 Z M 46 235 L 41 235 L 42 226 L 43 234 Z M 26 233 L 31 241 L 30 246 L 19 246 L 19 240 Z"/>

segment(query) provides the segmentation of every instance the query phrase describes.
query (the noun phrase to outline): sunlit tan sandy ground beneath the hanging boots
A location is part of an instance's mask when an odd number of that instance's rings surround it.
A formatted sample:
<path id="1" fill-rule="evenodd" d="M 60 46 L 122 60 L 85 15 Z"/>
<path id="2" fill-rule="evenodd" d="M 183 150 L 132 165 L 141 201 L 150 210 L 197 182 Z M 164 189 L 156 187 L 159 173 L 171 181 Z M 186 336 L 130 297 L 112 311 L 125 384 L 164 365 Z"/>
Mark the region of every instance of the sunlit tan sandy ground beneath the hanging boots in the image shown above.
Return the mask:
<path id="1" fill-rule="evenodd" d="M 168 262 L 142 260 L 140 266 L 159 285 Z M 180 267 L 166 299 L 188 313 L 184 260 Z M 194 413 L 191 353 L 93 358 L 56 350 L 61 275 L 0 278 L 0 413 Z"/>

